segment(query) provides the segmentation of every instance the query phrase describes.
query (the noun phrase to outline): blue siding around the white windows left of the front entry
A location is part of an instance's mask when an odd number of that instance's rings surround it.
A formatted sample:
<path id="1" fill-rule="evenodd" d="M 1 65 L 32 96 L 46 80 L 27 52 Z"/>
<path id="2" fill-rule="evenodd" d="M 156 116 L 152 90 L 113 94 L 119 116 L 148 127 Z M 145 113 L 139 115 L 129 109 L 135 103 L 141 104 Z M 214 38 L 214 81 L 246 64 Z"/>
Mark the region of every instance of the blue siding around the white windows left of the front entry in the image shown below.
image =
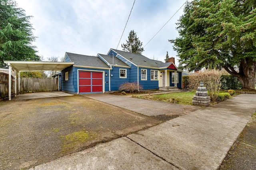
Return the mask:
<path id="1" fill-rule="evenodd" d="M 141 69 L 147 70 L 147 80 L 141 80 Z M 150 80 L 150 70 L 152 70 L 152 68 L 139 67 L 139 84 L 142 86 L 143 90 L 159 88 L 158 80 Z"/>

